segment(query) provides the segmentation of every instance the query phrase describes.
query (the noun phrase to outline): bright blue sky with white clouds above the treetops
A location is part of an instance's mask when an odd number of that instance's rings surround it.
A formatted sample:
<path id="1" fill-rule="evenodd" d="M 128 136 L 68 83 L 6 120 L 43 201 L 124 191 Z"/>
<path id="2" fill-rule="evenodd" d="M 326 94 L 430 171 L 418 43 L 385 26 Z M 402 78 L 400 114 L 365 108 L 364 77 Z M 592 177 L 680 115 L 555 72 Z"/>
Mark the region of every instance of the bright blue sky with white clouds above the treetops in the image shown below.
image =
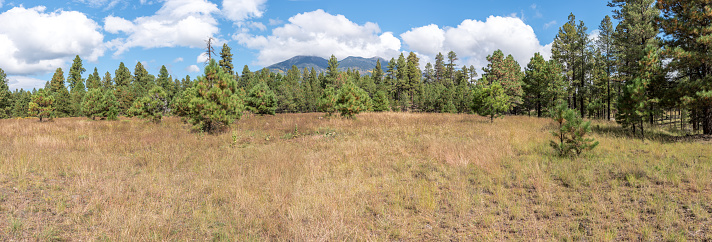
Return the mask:
<path id="1" fill-rule="evenodd" d="M 113 76 L 120 62 L 157 75 L 201 74 L 204 40 L 232 48 L 233 64 L 259 70 L 295 55 L 389 59 L 437 52 L 459 66 L 485 65 L 496 49 L 524 66 L 550 43 L 569 13 L 594 32 L 607 1 L 455 0 L 0 0 L 0 68 L 10 88 L 44 86 L 75 55 L 87 72 Z M 216 52 L 219 53 L 219 46 Z M 481 72 L 481 71 L 480 71 Z"/>

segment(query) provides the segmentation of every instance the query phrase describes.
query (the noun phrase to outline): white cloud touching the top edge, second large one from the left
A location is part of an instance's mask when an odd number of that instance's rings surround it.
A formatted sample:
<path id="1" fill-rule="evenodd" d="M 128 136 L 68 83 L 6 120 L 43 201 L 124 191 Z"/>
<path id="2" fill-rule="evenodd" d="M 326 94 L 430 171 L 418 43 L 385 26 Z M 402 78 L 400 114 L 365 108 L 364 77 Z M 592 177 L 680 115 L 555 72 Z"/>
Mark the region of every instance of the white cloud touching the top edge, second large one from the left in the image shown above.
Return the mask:
<path id="1" fill-rule="evenodd" d="M 218 33 L 217 5 L 207 0 L 166 0 L 155 15 L 129 21 L 108 16 L 104 19 L 106 31 L 124 33 L 127 38 L 114 39 L 109 46 L 120 55 L 133 47 L 194 47 L 204 45 L 204 40 Z"/>

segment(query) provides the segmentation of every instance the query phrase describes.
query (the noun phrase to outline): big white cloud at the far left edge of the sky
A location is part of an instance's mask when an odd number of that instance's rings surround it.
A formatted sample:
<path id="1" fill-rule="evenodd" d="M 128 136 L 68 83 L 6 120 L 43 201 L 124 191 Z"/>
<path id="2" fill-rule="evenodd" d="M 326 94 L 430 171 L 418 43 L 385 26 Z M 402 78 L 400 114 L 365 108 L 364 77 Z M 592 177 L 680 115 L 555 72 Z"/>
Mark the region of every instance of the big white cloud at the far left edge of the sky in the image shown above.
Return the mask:
<path id="1" fill-rule="evenodd" d="M 0 67 L 10 75 L 39 74 L 65 66 L 75 55 L 104 55 L 101 27 L 75 11 L 45 12 L 39 6 L 0 13 Z M 20 21 L 18 21 L 20 20 Z"/>

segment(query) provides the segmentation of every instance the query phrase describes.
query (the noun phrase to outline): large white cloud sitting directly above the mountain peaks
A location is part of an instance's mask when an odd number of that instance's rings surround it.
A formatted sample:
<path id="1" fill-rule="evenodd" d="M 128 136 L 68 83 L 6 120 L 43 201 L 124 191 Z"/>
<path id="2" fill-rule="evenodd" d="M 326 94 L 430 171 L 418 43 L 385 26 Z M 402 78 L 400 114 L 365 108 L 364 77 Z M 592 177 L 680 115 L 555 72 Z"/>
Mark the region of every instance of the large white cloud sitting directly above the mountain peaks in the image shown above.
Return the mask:
<path id="1" fill-rule="evenodd" d="M 273 29 L 270 36 L 238 32 L 233 39 L 259 50 L 256 64 L 262 66 L 296 55 L 387 58 L 398 55 L 401 47 L 400 40 L 391 32 L 381 33 L 378 24 L 359 25 L 343 15 L 331 15 L 321 9 L 289 18 L 289 23 Z"/>

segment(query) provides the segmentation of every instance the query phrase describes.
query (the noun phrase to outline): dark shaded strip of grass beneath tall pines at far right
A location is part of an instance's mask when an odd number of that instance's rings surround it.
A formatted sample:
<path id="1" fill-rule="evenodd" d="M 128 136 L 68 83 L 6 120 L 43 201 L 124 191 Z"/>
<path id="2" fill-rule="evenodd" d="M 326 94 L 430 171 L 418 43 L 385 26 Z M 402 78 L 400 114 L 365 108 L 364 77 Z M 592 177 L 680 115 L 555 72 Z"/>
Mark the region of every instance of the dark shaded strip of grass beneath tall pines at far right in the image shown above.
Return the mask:
<path id="1" fill-rule="evenodd" d="M 624 129 L 621 126 L 609 125 L 592 125 L 591 131 L 600 135 L 607 135 L 619 138 L 641 139 L 640 131 L 635 133 L 631 129 Z M 682 131 L 668 131 L 661 128 L 646 127 L 645 139 L 657 141 L 660 143 L 679 143 L 679 142 L 709 142 L 712 141 L 712 135 L 685 134 Z"/>

